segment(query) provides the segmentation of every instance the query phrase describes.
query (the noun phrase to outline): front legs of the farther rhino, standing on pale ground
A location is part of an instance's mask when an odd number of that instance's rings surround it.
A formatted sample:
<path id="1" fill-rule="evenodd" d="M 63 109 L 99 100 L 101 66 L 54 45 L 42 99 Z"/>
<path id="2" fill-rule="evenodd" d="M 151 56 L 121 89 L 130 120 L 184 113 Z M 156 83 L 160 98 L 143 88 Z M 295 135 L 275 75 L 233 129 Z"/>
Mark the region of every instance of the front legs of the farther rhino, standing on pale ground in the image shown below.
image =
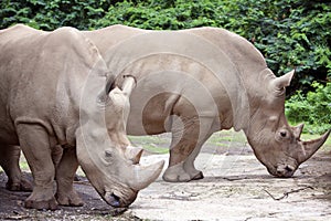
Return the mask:
<path id="1" fill-rule="evenodd" d="M 194 167 L 194 160 L 202 145 L 210 137 L 212 119 L 175 117 L 172 125 L 172 140 L 169 167 L 163 180 L 182 182 L 202 179 L 203 173 Z"/>

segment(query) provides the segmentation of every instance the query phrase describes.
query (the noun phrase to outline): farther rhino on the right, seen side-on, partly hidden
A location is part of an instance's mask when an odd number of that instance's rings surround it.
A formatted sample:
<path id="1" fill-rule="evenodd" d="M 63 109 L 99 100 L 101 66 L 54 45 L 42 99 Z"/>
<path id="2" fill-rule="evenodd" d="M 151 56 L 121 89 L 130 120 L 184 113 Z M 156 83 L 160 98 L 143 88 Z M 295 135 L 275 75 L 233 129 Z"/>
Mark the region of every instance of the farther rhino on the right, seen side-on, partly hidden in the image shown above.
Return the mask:
<path id="1" fill-rule="evenodd" d="M 85 31 L 109 71 L 134 75 L 129 135 L 172 133 L 168 181 L 201 179 L 194 159 L 221 129 L 244 130 L 257 159 L 277 177 L 290 177 L 330 131 L 302 141 L 303 125 L 285 117 L 285 87 L 293 71 L 276 77 L 244 38 L 224 29 L 149 31 L 111 25 Z"/>

